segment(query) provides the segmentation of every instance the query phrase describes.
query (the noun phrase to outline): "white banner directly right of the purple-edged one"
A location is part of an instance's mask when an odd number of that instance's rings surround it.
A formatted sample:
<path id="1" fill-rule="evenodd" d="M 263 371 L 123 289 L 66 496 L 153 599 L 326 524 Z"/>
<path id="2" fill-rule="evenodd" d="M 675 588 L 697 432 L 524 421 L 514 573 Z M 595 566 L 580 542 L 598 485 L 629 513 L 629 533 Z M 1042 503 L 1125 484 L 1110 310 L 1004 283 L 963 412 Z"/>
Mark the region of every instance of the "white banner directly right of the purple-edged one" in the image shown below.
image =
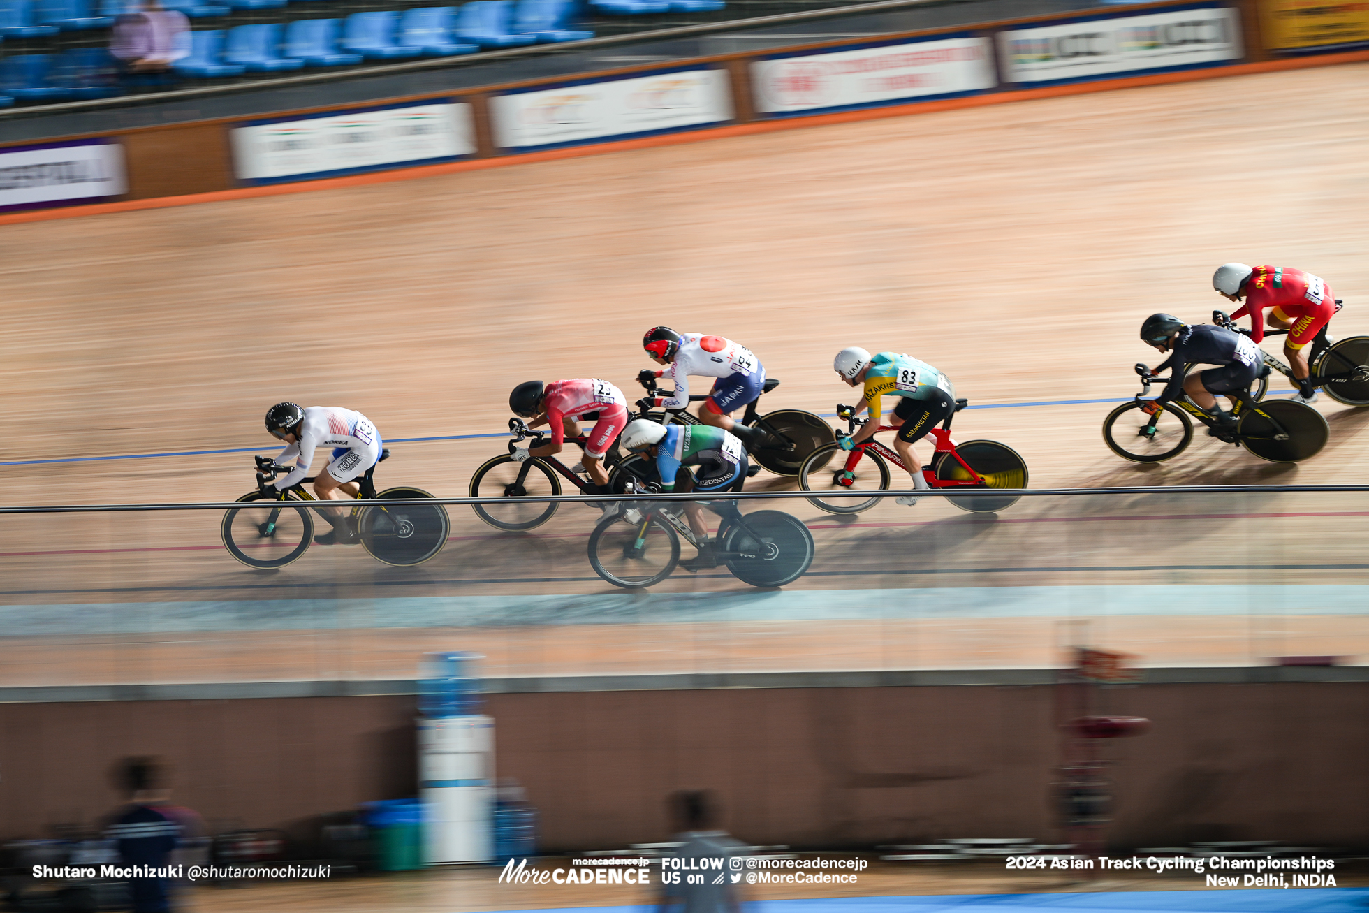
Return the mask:
<path id="1" fill-rule="evenodd" d="M 450 162 L 475 152 L 471 105 L 335 111 L 233 129 L 233 167 L 255 183 Z"/>

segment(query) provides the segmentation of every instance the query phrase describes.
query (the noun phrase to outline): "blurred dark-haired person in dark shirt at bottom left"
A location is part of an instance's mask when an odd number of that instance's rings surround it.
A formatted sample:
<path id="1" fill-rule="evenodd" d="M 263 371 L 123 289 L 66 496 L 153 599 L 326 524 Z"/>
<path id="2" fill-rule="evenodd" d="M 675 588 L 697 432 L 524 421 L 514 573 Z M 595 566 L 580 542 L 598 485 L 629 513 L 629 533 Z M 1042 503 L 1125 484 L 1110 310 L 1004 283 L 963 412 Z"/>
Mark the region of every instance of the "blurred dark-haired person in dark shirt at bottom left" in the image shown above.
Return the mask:
<path id="1" fill-rule="evenodd" d="M 152 757 L 130 757 L 116 768 L 118 786 L 129 795 L 105 830 L 115 842 L 120 865 L 146 866 L 148 877 L 129 879 L 133 913 L 167 913 L 171 909 L 170 871 L 181 835 L 203 832 L 200 816 L 170 803 L 163 786 L 164 769 Z"/>

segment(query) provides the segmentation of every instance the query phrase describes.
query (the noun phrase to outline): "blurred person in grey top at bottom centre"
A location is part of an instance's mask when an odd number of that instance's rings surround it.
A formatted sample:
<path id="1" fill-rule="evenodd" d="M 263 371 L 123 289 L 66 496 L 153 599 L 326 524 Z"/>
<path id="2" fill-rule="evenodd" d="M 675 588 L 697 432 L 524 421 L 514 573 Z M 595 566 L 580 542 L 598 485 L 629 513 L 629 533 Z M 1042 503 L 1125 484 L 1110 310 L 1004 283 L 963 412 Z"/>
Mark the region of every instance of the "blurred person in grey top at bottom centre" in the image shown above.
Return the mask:
<path id="1" fill-rule="evenodd" d="M 680 875 L 679 883 L 665 884 L 661 879 L 661 897 L 656 913 L 672 913 L 676 908 L 683 908 L 683 913 L 741 913 L 742 897 L 738 888 L 741 872 L 734 872 L 730 858 L 739 856 L 746 846 L 731 836 L 727 831 L 715 830 L 715 808 L 708 793 L 698 790 L 682 790 L 667 801 L 667 806 L 675 819 L 675 827 L 680 828 L 675 839 L 682 843 L 671 857 L 682 860 L 682 868 L 661 868 L 664 876 L 669 871 Z M 704 868 L 700 860 L 723 860 L 721 868 Z M 689 884 L 690 872 L 705 872 L 702 882 Z M 720 884 L 713 880 L 719 873 L 723 876 Z"/>

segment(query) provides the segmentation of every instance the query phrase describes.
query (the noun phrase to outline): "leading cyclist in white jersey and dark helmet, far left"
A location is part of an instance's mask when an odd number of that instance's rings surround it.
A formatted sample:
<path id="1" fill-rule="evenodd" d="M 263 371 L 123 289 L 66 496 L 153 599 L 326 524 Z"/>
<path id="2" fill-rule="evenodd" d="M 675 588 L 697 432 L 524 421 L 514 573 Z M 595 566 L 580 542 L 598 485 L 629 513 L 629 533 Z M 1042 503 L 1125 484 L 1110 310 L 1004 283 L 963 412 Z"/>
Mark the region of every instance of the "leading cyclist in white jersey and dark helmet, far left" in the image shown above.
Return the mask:
<path id="1" fill-rule="evenodd" d="M 275 480 L 275 491 L 296 485 L 309 474 L 314 452 L 319 446 L 333 448 L 333 457 L 315 474 L 314 493 L 322 501 L 349 501 L 361 486 L 352 479 L 375 465 L 381 459 L 381 434 L 360 412 L 331 405 L 300 408 L 293 402 L 279 402 L 266 413 L 266 430 L 289 446 L 275 459 L 285 463 L 298 457 L 294 470 Z M 330 532 L 314 537 L 319 545 L 356 545 L 360 537 L 356 520 L 342 511 L 319 511 L 333 524 Z"/>

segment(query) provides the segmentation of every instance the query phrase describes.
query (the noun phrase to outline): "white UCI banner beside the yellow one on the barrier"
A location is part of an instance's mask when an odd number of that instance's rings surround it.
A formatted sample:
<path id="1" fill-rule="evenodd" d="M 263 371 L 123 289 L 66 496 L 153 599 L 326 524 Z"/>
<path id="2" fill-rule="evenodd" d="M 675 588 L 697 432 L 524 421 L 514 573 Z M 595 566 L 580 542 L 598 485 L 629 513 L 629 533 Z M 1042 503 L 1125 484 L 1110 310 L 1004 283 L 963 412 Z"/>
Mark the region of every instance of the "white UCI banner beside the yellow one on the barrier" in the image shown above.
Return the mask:
<path id="1" fill-rule="evenodd" d="M 1065 82 L 1220 66 L 1243 56 L 1228 7 L 1091 16 L 998 33 L 1005 82 Z"/>

